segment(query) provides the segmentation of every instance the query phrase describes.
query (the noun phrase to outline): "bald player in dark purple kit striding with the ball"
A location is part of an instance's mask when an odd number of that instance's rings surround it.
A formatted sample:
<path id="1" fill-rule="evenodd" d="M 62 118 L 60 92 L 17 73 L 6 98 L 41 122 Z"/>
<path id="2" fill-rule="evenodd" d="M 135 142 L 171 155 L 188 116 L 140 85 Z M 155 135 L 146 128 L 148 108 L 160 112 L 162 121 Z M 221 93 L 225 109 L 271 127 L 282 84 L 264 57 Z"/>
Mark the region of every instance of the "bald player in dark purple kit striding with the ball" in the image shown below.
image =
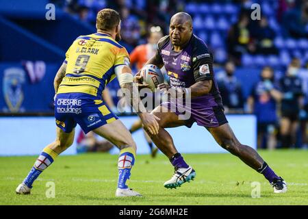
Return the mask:
<path id="1" fill-rule="evenodd" d="M 285 181 L 277 176 L 264 162 L 264 159 L 250 146 L 241 144 L 235 137 L 224 116 L 222 99 L 216 80 L 214 79 L 213 57 L 203 40 L 192 33 L 192 18 L 189 14 L 179 12 L 172 16 L 169 36 L 164 36 L 157 44 L 157 53 L 146 64 L 165 66 L 169 84 L 159 84 L 159 90 L 172 93 L 182 92 L 183 96 L 191 96 L 190 118 L 183 120 L 179 108 L 181 105 L 172 101 L 162 103 L 153 110 L 160 118 L 158 135 L 151 135 L 156 146 L 170 159 L 175 166 L 175 174 L 164 183 L 166 188 L 177 188 L 182 183 L 194 179 L 196 172 L 184 161 L 175 148 L 172 137 L 164 129 L 186 125 L 194 122 L 211 133 L 216 142 L 233 155 L 260 172 L 268 179 L 275 193 L 287 191 Z M 139 79 L 142 79 L 139 77 Z M 171 92 L 170 92 L 171 91 Z M 172 108 L 176 110 L 172 111 Z M 166 110 L 168 109 L 168 112 Z M 170 112 L 171 109 L 171 112 Z"/>

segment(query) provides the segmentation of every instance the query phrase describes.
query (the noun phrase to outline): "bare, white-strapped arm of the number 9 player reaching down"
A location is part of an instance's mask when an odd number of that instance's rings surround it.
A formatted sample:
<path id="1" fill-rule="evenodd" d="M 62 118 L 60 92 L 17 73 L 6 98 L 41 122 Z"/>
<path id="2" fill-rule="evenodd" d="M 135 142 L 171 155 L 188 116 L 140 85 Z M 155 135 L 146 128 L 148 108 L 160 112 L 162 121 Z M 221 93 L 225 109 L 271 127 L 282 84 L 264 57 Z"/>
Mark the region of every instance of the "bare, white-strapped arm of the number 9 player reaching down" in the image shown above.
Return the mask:
<path id="1" fill-rule="evenodd" d="M 153 114 L 146 112 L 146 108 L 140 100 L 138 88 L 135 83 L 133 83 L 133 75 L 131 74 L 131 68 L 125 65 L 117 66 L 115 68 L 120 87 L 123 89 L 127 103 L 133 107 L 136 111 L 144 128 L 149 130 L 152 135 L 157 135 L 159 131 L 159 125 L 157 123 L 157 118 Z"/>

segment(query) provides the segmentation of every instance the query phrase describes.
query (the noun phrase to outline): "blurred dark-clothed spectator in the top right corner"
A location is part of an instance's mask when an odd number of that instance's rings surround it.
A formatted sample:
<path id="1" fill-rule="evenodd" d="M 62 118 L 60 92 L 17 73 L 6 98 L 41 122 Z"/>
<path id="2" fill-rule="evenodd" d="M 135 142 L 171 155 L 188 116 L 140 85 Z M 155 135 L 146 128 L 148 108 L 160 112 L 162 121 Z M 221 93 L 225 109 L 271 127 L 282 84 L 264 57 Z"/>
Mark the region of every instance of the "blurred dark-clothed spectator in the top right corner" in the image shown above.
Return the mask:
<path id="1" fill-rule="evenodd" d="M 308 38 L 308 1 L 303 1 L 301 7 L 287 10 L 283 14 L 283 25 L 291 37 Z"/>

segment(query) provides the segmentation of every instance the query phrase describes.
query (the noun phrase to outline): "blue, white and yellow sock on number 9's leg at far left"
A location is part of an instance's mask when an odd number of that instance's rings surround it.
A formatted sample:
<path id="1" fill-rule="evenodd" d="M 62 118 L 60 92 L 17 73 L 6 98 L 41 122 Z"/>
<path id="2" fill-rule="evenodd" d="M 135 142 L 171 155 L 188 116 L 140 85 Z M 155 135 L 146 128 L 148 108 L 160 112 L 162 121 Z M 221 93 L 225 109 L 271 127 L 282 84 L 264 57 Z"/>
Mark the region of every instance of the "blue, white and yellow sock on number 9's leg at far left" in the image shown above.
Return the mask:
<path id="1" fill-rule="evenodd" d="M 25 183 L 27 187 L 32 188 L 34 181 L 38 178 L 44 169 L 53 163 L 55 157 L 57 157 L 57 153 L 55 153 L 55 151 L 49 148 L 45 148 L 44 151 L 40 153 L 40 156 L 38 156 L 38 159 L 36 160 L 34 166 L 31 168 L 27 177 L 25 177 L 23 183 Z"/>

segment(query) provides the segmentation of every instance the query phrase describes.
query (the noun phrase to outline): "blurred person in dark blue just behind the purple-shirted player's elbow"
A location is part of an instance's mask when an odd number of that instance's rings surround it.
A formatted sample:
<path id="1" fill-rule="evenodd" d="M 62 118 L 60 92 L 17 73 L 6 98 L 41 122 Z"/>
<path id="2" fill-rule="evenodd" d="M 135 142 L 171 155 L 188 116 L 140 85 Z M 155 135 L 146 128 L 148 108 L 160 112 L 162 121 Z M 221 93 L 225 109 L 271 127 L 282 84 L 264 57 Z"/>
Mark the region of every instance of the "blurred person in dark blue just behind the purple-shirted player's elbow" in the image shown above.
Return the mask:
<path id="1" fill-rule="evenodd" d="M 235 65 L 227 62 L 224 66 L 223 77 L 218 79 L 218 88 L 226 113 L 243 113 L 244 98 L 242 85 L 234 75 Z"/>

